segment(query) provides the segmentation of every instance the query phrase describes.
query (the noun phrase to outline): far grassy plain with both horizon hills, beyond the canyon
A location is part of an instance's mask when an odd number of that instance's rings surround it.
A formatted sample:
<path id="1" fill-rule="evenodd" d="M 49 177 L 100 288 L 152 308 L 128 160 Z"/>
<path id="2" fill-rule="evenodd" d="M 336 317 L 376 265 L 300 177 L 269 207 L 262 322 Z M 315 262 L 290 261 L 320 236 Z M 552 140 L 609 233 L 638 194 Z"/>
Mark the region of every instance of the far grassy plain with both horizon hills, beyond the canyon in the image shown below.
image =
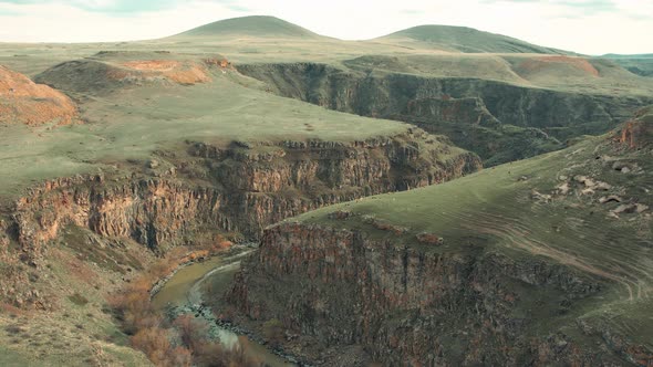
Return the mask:
<path id="1" fill-rule="evenodd" d="M 440 38 L 444 52 L 434 50 L 437 44 L 432 43 L 433 40 L 440 42 L 437 41 Z M 450 44 L 481 53 L 462 53 Z M 319 62 L 338 67 L 346 65 L 431 77 L 475 77 L 574 93 L 653 93 L 651 78 L 628 72 L 618 65 L 620 61 L 549 59 L 557 56 L 551 53 L 558 52 L 471 29 L 433 25 L 375 40 L 342 41 L 317 35 L 272 17 L 224 20 L 175 36 L 139 42 L 0 43 L 0 63 L 35 76 L 58 63 L 93 56 L 101 51 L 169 51 L 195 55 L 218 52 L 236 64 Z"/>

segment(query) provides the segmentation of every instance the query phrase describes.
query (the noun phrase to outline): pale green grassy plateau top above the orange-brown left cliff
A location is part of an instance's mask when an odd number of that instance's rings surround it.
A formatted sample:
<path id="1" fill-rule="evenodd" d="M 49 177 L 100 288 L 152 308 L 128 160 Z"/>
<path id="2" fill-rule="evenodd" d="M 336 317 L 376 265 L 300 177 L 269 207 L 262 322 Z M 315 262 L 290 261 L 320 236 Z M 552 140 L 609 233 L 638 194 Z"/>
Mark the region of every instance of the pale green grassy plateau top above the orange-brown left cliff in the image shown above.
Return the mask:
<path id="1" fill-rule="evenodd" d="M 96 80 L 94 71 L 80 70 L 77 80 L 70 80 L 69 85 Z M 147 159 L 152 151 L 186 139 L 220 145 L 232 140 L 352 141 L 408 128 L 248 88 L 257 82 L 232 70 L 211 70 L 210 76 L 209 83 L 191 86 L 154 83 L 115 88 L 112 84 L 107 93 L 92 97 L 92 91 L 69 90 L 64 92 L 81 102 L 85 124 L 0 125 L 0 197 L 14 197 L 44 179 L 112 171 L 116 161 Z"/>

